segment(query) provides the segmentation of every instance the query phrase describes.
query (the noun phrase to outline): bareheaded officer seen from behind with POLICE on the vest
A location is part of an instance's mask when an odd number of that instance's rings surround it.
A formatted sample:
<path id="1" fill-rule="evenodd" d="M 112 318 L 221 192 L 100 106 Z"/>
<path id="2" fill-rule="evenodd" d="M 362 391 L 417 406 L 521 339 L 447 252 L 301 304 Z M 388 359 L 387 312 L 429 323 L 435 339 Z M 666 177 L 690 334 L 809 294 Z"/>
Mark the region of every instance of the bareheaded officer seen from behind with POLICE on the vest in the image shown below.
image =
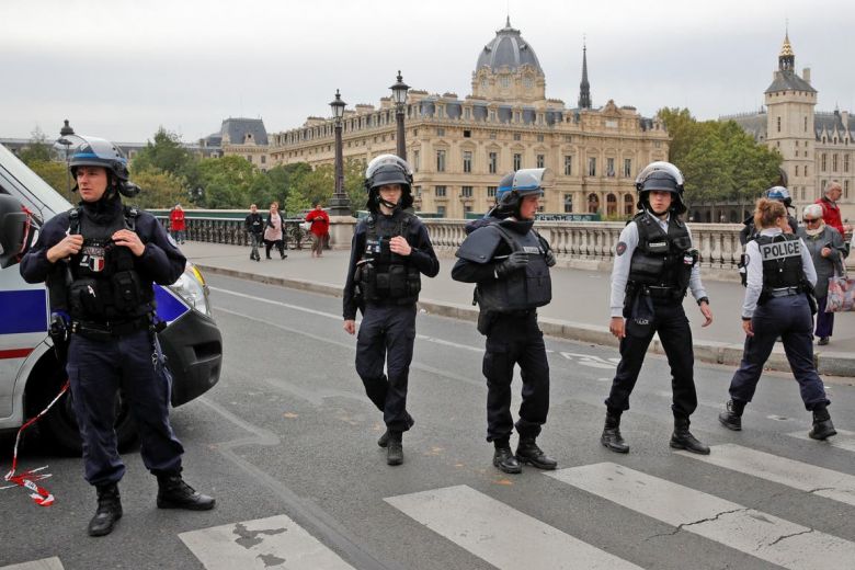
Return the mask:
<path id="1" fill-rule="evenodd" d="M 808 435 L 825 440 L 837 432 L 827 410 L 830 402 L 825 389 L 813 365 L 811 312 L 817 310 L 812 298 L 817 283 L 813 261 L 801 238 L 785 231 L 788 223 L 783 204 L 759 200 L 754 220 L 760 237 L 746 247 L 748 286 L 742 304 L 745 349 L 730 381 L 727 409 L 718 419 L 730 430 L 742 429 L 742 412 L 753 398 L 763 364 L 780 335 L 805 408 L 813 412 L 813 426 Z"/>

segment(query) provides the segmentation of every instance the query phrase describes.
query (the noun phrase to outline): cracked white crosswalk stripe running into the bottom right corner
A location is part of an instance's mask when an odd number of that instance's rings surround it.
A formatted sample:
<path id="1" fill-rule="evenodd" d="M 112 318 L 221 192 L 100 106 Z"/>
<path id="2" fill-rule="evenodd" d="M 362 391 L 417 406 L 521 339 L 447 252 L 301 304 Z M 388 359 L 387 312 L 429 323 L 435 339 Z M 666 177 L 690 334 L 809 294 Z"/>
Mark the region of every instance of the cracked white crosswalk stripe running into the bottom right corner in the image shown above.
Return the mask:
<path id="1" fill-rule="evenodd" d="M 852 570 L 855 544 L 613 463 L 547 474 L 643 515 L 791 570 Z"/>

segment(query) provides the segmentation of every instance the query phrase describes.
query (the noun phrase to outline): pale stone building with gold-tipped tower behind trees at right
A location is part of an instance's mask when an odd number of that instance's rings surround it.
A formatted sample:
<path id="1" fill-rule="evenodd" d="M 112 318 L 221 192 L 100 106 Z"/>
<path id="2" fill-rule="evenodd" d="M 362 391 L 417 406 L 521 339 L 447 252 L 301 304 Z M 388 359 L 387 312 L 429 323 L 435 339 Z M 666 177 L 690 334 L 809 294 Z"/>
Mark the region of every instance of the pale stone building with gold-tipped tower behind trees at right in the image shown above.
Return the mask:
<path id="1" fill-rule="evenodd" d="M 789 34 L 778 55 L 778 69 L 765 91 L 765 107 L 755 113 L 722 116 L 732 119 L 770 148 L 780 152 L 789 191 L 799 208 L 822 196 L 831 182 L 843 186 L 841 214 L 855 219 L 855 117 L 846 111 L 816 111 L 817 90 L 810 69 L 796 72 Z M 760 192 L 761 189 L 759 189 Z"/>

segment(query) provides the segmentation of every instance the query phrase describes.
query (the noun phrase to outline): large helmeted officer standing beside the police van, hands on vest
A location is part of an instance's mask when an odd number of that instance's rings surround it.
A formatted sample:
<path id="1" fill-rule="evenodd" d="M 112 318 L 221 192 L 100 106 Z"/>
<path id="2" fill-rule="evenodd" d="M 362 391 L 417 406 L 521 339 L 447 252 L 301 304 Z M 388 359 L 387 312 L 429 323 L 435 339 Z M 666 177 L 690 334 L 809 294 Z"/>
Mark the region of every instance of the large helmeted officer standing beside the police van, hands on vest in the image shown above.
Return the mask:
<path id="1" fill-rule="evenodd" d="M 170 387 L 155 337 L 152 282 L 174 283 L 186 259 L 160 224 L 126 207 L 134 196 L 127 162 L 111 142 L 77 137 L 70 160 L 79 207 L 52 218 L 21 262 L 29 283 L 46 282 L 52 310 L 68 316 L 66 371 L 80 435 L 86 479 L 98 491 L 91 536 L 113 531 L 122 517 L 117 483 L 125 466 L 116 449 L 119 390 L 141 440 L 142 463 L 158 479 L 160 509 L 208 510 L 214 499 L 181 477 L 183 447 L 169 422 Z"/>

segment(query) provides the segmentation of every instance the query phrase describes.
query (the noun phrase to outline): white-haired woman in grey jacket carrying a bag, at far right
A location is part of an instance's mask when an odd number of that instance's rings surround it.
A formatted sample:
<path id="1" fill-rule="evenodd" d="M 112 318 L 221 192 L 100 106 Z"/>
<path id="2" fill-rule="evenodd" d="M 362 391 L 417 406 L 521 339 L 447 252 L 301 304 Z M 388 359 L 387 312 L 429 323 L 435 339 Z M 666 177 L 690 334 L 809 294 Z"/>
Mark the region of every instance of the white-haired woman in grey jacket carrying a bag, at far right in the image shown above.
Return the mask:
<path id="1" fill-rule="evenodd" d="M 822 219 L 822 207 L 819 204 L 805 206 L 802 213 L 803 226 L 799 227 L 798 236 L 808 247 L 808 252 L 813 260 L 817 270 L 817 286 L 813 294 L 817 297 L 817 329 L 819 337 L 817 344 L 824 346 L 829 343 L 834 330 L 834 314 L 825 312 L 825 301 L 829 298 L 829 278 L 835 273 L 843 275 L 843 258 L 846 247 L 843 244 L 843 236 Z"/>

